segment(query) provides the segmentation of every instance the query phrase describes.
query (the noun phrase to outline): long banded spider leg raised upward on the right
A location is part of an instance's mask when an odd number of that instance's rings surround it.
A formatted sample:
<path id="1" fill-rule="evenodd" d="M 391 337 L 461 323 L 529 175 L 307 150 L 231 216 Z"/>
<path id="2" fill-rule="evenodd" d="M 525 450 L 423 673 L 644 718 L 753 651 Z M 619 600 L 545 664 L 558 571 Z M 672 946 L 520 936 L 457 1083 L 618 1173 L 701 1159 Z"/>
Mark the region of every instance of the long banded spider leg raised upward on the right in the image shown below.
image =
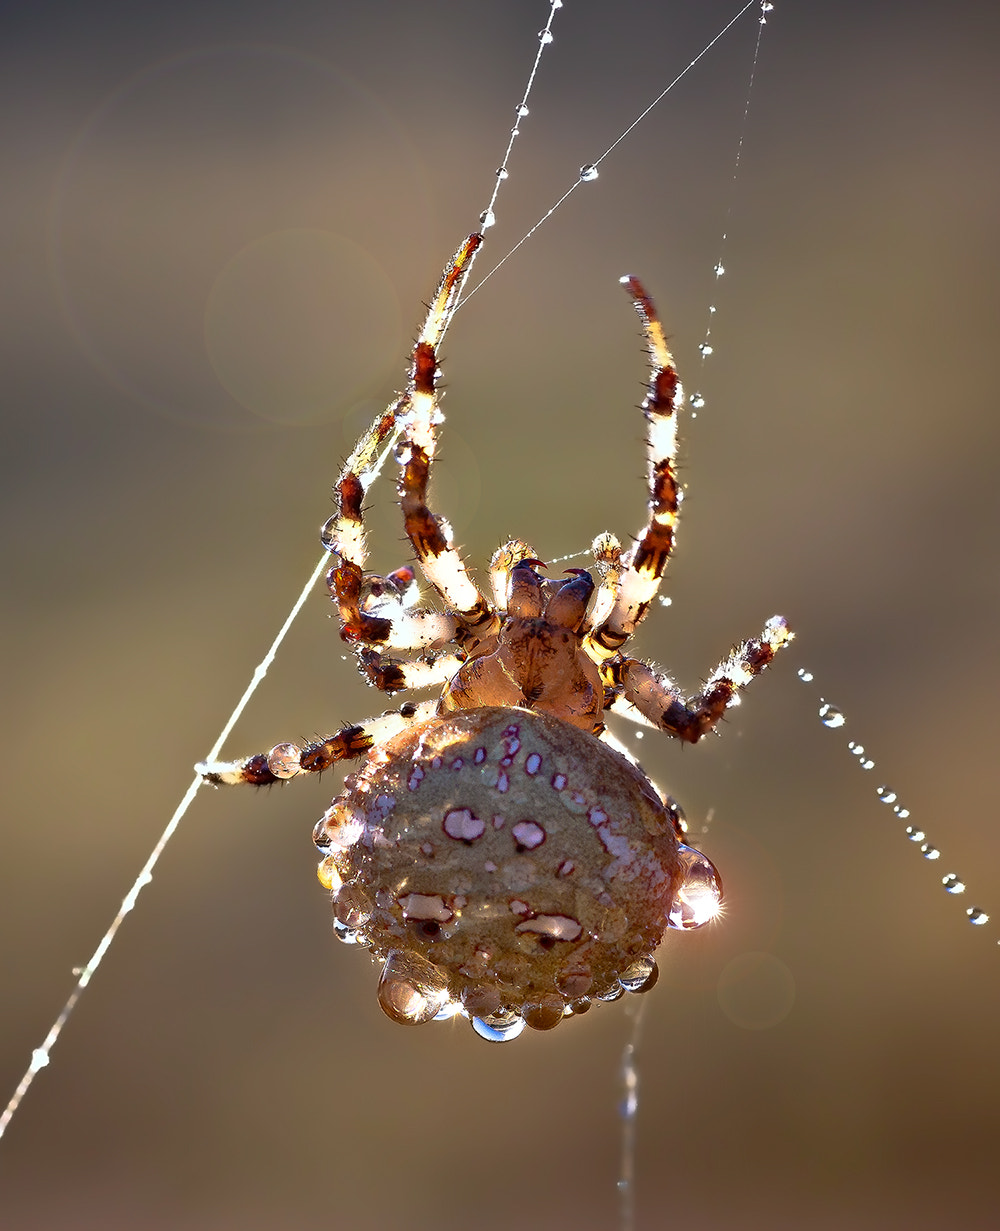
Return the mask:
<path id="1" fill-rule="evenodd" d="M 649 388 L 643 401 L 643 412 L 649 423 L 649 517 L 635 545 L 621 559 L 621 575 L 611 611 L 600 623 L 595 623 L 587 638 L 587 652 L 597 662 L 616 655 L 649 611 L 674 549 L 674 529 L 681 499 L 675 458 L 677 411 L 683 404 L 683 389 L 653 300 L 638 278 L 628 276 L 621 282 L 639 314 L 650 359 Z M 595 556 L 597 550 L 595 545 Z M 597 558 L 600 563 L 600 556 Z M 608 572 L 613 575 L 615 571 L 617 570 L 611 564 Z"/>

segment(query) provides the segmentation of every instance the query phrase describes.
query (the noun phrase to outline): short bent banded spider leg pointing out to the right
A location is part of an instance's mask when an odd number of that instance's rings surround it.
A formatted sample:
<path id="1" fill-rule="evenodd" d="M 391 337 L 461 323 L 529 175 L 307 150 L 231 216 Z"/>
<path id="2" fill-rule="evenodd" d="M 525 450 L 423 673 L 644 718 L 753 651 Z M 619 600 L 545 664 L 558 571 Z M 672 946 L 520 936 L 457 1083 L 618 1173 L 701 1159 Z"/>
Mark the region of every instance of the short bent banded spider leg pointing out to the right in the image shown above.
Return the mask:
<path id="1" fill-rule="evenodd" d="M 760 636 L 738 645 L 708 677 L 704 688 L 685 700 L 677 687 L 638 659 L 617 659 L 602 670 L 613 689 L 610 708 L 648 719 L 675 739 L 696 744 L 711 731 L 730 705 L 739 704 L 741 691 L 775 659 L 794 634 L 781 616 L 772 616 Z"/>

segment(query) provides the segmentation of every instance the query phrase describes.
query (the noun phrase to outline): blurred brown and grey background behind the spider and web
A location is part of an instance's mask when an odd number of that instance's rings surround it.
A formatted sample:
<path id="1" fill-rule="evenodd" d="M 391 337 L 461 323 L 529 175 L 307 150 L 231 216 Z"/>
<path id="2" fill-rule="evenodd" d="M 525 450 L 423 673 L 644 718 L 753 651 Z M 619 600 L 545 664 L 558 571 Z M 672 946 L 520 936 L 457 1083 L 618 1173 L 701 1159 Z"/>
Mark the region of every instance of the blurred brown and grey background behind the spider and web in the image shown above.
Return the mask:
<path id="1" fill-rule="evenodd" d="M 735 9 L 567 4 L 480 275 Z M 7 16 L 4 1091 L 317 560 L 546 16 Z M 647 1002 L 640 1229 L 995 1226 L 999 33 L 970 0 L 780 4 L 732 190 L 748 14 L 447 340 L 438 502 L 470 559 L 626 535 L 644 361 L 616 279 L 640 273 L 707 400 L 640 652 L 693 687 L 772 612 L 799 633 L 722 740 L 640 745 L 696 827 L 712 814 L 729 891 Z M 373 524 L 373 564 L 398 564 L 388 500 Z M 329 611 L 234 755 L 382 708 Z M 0 1146 L 4 1227 L 616 1225 L 622 1006 L 506 1048 L 392 1025 L 313 879 L 334 789 L 197 799 Z"/>

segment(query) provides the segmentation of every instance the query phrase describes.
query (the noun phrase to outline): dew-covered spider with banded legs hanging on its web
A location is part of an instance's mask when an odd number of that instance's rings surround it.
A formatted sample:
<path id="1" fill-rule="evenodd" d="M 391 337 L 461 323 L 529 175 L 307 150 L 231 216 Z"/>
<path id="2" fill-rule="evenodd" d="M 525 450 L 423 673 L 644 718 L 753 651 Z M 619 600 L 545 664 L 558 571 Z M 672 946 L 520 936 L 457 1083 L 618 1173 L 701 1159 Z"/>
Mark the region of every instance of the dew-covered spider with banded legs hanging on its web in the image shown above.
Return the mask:
<path id="1" fill-rule="evenodd" d="M 470 235 L 446 267 L 406 388 L 347 459 L 323 529 L 336 561 L 326 585 L 363 675 L 385 693 L 437 686 L 440 697 L 198 771 L 216 784 L 265 785 L 361 762 L 313 835 L 337 936 L 382 964 L 378 1001 L 394 1020 L 462 1013 L 501 1041 L 648 990 L 666 928 L 700 927 L 719 911 L 722 881 L 683 842 L 681 809 L 605 714 L 693 744 L 792 634 L 781 617 L 767 620 L 690 698 L 624 654 L 659 588 L 680 502 L 681 384 L 634 277 L 622 283 L 651 364 L 647 523 L 627 551 L 599 535 L 596 581 L 583 569 L 547 580 L 534 549 L 512 540 L 490 561 L 491 601 L 479 590 L 426 492 L 442 421 L 436 348 L 480 244 Z M 406 535 L 443 609 L 416 606 L 409 566 L 365 571 L 365 494 L 394 446 Z"/>

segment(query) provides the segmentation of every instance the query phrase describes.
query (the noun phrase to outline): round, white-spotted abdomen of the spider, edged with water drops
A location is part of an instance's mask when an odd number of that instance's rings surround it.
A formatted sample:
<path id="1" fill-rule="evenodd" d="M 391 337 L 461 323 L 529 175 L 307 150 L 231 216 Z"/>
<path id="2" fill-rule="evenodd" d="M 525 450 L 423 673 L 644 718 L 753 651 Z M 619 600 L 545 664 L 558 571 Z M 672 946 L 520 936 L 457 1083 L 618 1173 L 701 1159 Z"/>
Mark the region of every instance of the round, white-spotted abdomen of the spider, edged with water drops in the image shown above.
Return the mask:
<path id="1" fill-rule="evenodd" d="M 642 771 L 518 708 L 385 741 L 315 840 L 341 931 L 385 963 L 379 1001 L 404 1022 L 453 1003 L 547 1027 L 619 995 L 637 963 L 653 969 L 686 875 L 675 812 Z"/>

